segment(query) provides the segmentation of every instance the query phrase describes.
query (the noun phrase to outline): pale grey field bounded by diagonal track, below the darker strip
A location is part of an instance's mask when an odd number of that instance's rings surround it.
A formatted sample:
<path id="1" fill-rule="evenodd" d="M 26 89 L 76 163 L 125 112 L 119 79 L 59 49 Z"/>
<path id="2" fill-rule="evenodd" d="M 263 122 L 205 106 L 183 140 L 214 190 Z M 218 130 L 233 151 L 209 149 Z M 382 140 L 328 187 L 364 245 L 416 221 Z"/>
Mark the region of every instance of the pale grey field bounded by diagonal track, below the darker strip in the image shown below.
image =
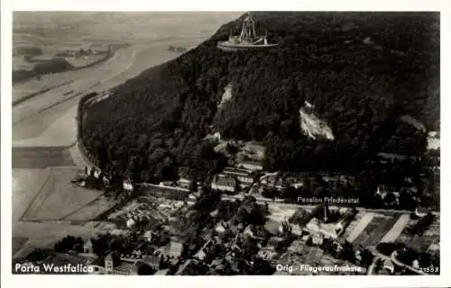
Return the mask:
<path id="1" fill-rule="evenodd" d="M 74 168 L 51 168 L 49 180 L 24 213 L 23 220 L 62 220 L 102 195 L 100 191 L 71 184 L 76 171 Z"/>

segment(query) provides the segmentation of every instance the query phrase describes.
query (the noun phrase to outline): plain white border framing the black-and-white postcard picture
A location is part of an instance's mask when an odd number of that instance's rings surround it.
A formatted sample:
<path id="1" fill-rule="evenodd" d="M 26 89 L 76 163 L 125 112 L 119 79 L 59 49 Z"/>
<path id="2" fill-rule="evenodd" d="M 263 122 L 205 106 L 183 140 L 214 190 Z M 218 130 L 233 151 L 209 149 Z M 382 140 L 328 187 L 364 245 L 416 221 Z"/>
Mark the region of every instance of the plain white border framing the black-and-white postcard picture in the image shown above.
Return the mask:
<path id="1" fill-rule="evenodd" d="M 449 153 L 446 150 L 447 144 L 450 144 L 448 125 L 449 113 L 446 113 L 446 107 L 449 107 L 449 92 L 451 71 L 449 69 L 450 56 L 445 51 L 451 51 L 451 22 L 450 3 L 446 0 L 376 0 L 364 2 L 362 0 L 340 0 L 340 1 L 299 1 L 287 3 L 286 1 L 265 1 L 248 0 L 236 1 L 92 1 L 77 0 L 66 1 L 61 4 L 60 0 L 4 0 L 1 1 L 1 22 L 2 22 L 2 286 L 4 287 L 77 287 L 93 285 L 96 287 L 130 287 L 152 286 L 158 284 L 159 287 L 171 287 L 178 285 L 181 287 L 229 287 L 231 285 L 245 285 L 260 287 L 269 286 L 345 286 L 345 287 L 438 287 L 450 286 L 450 277 L 446 276 L 446 271 L 451 271 L 450 261 L 447 257 L 451 255 L 450 247 L 447 241 L 450 240 L 446 228 L 447 219 L 449 219 L 449 209 L 446 210 L 444 203 L 450 203 L 450 183 L 448 178 L 441 179 L 441 276 L 204 276 L 204 277 L 136 277 L 136 276 L 44 276 L 44 275 L 11 275 L 11 64 L 12 64 L 12 14 L 11 11 L 18 10 L 75 10 L 75 11 L 247 11 L 247 10 L 307 10 L 307 11 L 440 11 L 441 12 L 441 153 L 442 153 L 442 175 L 451 175 L 449 171 Z M 301 277 L 301 278 L 299 278 Z"/>

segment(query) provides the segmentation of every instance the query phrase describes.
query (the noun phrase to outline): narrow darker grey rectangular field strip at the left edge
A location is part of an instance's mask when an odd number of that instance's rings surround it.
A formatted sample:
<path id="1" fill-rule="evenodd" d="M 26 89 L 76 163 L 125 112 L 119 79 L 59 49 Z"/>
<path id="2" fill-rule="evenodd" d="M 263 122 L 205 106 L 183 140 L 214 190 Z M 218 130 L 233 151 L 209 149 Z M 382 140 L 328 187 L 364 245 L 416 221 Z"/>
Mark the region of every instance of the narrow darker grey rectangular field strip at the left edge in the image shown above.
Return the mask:
<path id="1" fill-rule="evenodd" d="M 13 168 L 46 168 L 48 166 L 73 166 L 69 150 L 61 147 L 13 148 Z"/>

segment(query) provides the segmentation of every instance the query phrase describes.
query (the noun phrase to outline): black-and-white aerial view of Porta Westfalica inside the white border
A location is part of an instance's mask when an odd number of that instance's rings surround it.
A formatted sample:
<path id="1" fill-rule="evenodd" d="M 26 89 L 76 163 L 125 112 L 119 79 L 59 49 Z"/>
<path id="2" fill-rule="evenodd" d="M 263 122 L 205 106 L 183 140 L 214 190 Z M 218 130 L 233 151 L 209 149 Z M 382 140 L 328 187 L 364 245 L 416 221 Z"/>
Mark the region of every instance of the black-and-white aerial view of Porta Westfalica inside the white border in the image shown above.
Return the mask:
<path id="1" fill-rule="evenodd" d="M 439 12 L 12 36 L 12 274 L 440 275 Z"/>

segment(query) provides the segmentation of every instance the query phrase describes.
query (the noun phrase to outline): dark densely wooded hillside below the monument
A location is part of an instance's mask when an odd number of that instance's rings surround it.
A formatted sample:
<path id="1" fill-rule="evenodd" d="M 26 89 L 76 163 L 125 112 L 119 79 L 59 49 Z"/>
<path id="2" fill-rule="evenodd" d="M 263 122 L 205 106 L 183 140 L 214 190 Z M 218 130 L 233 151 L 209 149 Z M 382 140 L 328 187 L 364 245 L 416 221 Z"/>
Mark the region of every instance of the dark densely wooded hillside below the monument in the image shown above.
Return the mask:
<path id="1" fill-rule="evenodd" d="M 270 169 L 360 169 L 381 151 L 419 155 L 439 121 L 439 14 L 257 12 L 257 30 L 277 48 L 216 48 L 241 20 L 222 26 L 186 54 L 115 88 L 90 107 L 87 149 L 103 165 L 149 180 L 179 166 L 213 171 L 224 163 L 202 141 L 211 125 L 223 137 L 261 140 Z M 232 99 L 217 108 L 226 85 Z M 304 101 L 335 135 L 308 139 Z"/>

